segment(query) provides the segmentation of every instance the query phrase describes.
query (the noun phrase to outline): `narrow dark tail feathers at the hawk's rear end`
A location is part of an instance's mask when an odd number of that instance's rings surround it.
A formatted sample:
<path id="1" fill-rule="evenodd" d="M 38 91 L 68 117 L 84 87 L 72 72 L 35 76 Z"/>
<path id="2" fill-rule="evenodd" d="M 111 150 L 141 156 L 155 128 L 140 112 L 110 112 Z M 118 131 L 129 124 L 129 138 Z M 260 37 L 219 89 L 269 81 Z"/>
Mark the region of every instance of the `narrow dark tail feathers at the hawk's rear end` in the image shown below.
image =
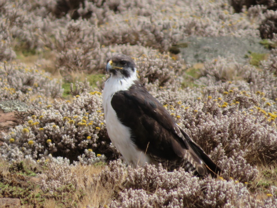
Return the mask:
<path id="1" fill-rule="evenodd" d="M 179 129 L 185 137 L 186 141 L 189 143 L 191 149 L 205 164 L 205 167 L 207 169 L 206 174 L 210 174 L 212 177 L 217 177 L 221 173 L 220 168 L 211 160 L 211 158 L 204 152 L 204 150 L 198 144 L 196 144 L 192 139 L 190 139 L 189 135 L 186 132 L 184 132 L 181 128 Z"/>

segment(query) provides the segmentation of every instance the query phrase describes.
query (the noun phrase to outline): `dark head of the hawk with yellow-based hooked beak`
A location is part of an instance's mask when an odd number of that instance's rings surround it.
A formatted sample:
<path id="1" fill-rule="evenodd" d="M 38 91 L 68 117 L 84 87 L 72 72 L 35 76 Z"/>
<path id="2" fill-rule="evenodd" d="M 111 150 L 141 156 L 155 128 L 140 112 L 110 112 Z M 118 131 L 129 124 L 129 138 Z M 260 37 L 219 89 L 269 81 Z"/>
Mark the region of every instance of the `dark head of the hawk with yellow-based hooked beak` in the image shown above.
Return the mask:
<path id="1" fill-rule="evenodd" d="M 124 54 L 116 54 L 107 60 L 106 70 L 111 75 L 129 78 L 136 73 L 136 65 L 133 59 Z"/>

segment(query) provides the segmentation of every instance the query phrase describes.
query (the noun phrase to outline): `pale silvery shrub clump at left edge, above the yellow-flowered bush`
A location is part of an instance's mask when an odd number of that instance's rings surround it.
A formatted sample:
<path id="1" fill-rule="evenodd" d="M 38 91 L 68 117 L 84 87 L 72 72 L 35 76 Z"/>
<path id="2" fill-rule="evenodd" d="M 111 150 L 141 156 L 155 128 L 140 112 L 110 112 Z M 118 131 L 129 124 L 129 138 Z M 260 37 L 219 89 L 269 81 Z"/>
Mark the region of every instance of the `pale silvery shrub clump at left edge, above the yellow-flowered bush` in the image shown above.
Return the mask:
<path id="1" fill-rule="evenodd" d="M 50 73 L 36 67 L 0 63 L 0 101 L 21 99 L 30 101 L 32 95 L 57 98 L 63 93 L 62 83 Z"/>

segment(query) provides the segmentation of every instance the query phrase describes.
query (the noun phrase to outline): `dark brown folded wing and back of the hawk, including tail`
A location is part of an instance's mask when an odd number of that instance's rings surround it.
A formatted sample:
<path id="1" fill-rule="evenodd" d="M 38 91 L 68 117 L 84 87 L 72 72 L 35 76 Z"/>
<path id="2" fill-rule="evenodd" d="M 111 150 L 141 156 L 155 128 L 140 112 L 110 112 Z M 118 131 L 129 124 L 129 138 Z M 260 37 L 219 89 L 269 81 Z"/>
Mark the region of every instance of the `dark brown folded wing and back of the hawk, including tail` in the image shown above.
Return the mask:
<path id="1" fill-rule="evenodd" d="M 201 147 L 139 82 L 129 90 L 116 92 L 111 104 L 120 121 L 131 129 L 131 139 L 140 150 L 170 161 L 185 158 L 199 175 L 217 170 Z M 211 166 L 208 171 L 206 165 Z"/>

